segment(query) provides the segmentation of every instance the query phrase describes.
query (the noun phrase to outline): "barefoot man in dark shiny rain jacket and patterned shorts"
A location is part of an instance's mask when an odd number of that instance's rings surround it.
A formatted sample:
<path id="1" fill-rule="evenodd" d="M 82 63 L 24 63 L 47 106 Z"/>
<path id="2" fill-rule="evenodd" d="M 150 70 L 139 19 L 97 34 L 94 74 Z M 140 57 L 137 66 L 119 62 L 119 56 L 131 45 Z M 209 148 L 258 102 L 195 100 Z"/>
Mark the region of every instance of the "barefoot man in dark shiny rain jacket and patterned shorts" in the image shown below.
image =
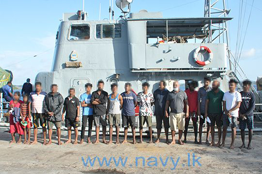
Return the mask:
<path id="1" fill-rule="evenodd" d="M 51 85 L 51 92 L 45 96 L 44 109 L 47 114 L 48 121 L 48 135 L 49 141 L 47 145 L 52 143 L 53 126 L 56 126 L 56 134 L 58 145 L 61 145 L 61 126 L 62 126 L 62 108 L 64 99 L 63 96 L 57 92 L 57 85 Z"/>

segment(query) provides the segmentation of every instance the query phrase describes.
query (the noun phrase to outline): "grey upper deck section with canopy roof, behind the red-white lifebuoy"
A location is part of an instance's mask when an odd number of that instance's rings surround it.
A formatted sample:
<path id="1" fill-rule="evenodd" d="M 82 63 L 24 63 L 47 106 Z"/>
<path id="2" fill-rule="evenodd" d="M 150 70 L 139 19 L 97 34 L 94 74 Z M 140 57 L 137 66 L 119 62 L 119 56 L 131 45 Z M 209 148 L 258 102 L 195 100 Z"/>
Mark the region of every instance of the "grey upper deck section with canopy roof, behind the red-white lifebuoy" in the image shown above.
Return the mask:
<path id="1" fill-rule="evenodd" d="M 210 72 L 224 73 L 227 68 L 226 44 L 207 43 L 215 30 L 209 26 L 223 24 L 229 17 L 162 18 L 162 13 L 131 13 L 127 19 L 129 66 L 132 72 Z M 206 46 L 212 52 L 210 64 L 194 61 L 194 52 Z M 200 50 L 199 61 L 208 59 Z M 218 75 L 219 76 L 219 75 Z"/>

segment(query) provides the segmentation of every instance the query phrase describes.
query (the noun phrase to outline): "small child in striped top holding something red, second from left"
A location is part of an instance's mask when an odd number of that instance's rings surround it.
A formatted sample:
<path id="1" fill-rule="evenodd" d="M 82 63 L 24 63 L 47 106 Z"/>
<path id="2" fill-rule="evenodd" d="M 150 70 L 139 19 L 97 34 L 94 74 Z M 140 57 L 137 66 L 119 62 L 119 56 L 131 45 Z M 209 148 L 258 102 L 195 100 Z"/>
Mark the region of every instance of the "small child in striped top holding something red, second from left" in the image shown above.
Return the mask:
<path id="1" fill-rule="evenodd" d="M 21 115 L 21 124 L 24 129 L 24 144 L 30 144 L 30 135 L 31 135 L 31 126 L 32 126 L 32 116 L 29 112 L 29 100 L 28 95 L 23 95 L 23 103 L 20 105 L 20 115 Z M 26 133 L 28 133 L 28 140 L 26 140 Z"/>

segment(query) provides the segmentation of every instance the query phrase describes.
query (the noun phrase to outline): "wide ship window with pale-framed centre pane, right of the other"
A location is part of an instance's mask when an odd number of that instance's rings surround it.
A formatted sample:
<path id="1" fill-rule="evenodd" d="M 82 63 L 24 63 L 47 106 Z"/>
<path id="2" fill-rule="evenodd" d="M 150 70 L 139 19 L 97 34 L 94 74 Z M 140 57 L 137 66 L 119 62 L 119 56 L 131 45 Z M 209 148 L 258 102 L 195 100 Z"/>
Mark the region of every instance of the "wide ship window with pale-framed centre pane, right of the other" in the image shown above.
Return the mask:
<path id="1" fill-rule="evenodd" d="M 98 24 L 96 25 L 96 38 L 120 38 L 121 24 Z"/>

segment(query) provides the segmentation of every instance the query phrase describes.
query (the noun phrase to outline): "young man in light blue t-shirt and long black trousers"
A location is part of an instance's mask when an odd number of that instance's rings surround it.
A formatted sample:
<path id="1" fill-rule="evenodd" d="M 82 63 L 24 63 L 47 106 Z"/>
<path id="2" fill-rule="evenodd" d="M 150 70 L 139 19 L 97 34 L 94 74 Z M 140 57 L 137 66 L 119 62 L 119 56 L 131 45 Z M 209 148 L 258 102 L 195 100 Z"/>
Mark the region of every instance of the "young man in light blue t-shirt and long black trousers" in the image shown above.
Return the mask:
<path id="1" fill-rule="evenodd" d="M 86 87 L 86 93 L 84 93 L 80 96 L 80 102 L 81 102 L 81 106 L 83 108 L 80 144 L 82 144 L 84 142 L 87 119 L 88 119 L 87 143 L 88 144 L 91 143 L 90 137 L 91 137 L 91 133 L 92 133 L 92 124 L 93 124 L 93 105 L 90 103 L 91 96 L 92 96 L 92 94 L 91 94 L 92 84 L 87 83 L 85 85 L 85 87 Z"/>

